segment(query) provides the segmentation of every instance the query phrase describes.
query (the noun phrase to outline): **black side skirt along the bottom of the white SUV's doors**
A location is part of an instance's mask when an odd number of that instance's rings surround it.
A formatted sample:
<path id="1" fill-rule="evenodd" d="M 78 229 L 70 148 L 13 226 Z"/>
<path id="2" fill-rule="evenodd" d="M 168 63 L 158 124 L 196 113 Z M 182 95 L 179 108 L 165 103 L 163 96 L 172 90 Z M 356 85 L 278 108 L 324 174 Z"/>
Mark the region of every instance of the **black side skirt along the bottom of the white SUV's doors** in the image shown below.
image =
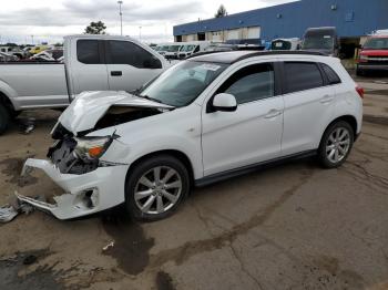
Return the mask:
<path id="1" fill-rule="evenodd" d="M 225 180 L 228 178 L 241 176 L 241 175 L 244 175 L 247 173 L 256 172 L 256 170 L 265 168 L 265 167 L 279 165 L 279 164 L 283 164 L 283 163 L 286 163 L 289 160 L 296 160 L 296 159 L 302 159 L 302 158 L 306 158 L 306 157 L 312 157 L 315 155 L 317 155 L 317 151 L 314 149 L 314 151 L 302 152 L 302 153 L 297 153 L 297 154 L 293 154 L 293 155 L 288 155 L 288 156 L 283 156 L 283 157 L 278 157 L 275 159 L 261 162 L 257 164 L 252 164 L 252 165 L 247 165 L 244 167 L 226 170 L 223 173 L 217 173 L 217 174 L 213 174 L 210 176 L 205 176 L 203 178 L 194 180 L 194 185 L 196 187 L 203 187 L 203 186 L 206 186 L 210 184 L 214 184 L 214 183 L 218 183 L 218 182 L 222 182 L 222 180 Z"/>

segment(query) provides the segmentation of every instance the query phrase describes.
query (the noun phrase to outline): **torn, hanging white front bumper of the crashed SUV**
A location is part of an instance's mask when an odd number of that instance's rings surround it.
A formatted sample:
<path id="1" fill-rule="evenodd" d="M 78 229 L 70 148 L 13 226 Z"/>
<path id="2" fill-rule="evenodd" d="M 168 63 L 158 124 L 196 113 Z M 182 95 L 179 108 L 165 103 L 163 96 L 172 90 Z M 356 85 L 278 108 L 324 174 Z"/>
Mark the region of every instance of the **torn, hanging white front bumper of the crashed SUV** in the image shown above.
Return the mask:
<path id="1" fill-rule="evenodd" d="M 124 203 L 127 167 L 118 165 L 99 167 L 82 175 L 61 174 L 50 160 L 29 158 L 24 163 L 22 175 L 33 169 L 41 169 L 64 190 L 64 194 L 54 196 L 52 204 L 18 193 L 16 195 L 19 200 L 50 213 L 59 219 L 86 216 Z"/>

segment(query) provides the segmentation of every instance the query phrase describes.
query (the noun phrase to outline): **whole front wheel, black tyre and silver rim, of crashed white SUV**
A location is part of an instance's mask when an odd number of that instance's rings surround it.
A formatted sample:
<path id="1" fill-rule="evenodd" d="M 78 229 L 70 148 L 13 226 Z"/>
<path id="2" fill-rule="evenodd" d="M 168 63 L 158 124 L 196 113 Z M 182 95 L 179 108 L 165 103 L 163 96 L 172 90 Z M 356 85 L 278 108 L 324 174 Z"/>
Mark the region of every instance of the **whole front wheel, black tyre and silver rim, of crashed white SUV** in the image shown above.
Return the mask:
<path id="1" fill-rule="evenodd" d="M 190 191 L 187 168 L 170 155 L 146 158 L 129 174 L 125 204 L 135 220 L 154 221 L 169 217 Z"/>

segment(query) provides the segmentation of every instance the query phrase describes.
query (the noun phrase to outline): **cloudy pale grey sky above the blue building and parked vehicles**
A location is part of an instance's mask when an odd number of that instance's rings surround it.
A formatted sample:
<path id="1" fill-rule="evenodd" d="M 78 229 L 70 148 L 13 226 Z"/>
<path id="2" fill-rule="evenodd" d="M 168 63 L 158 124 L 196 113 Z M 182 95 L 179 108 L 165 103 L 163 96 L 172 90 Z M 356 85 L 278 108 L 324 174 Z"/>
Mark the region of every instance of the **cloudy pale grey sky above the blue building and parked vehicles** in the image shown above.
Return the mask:
<path id="1" fill-rule="evenodd" d="M 229 14 L 294 0 L 123 0 L 123 34 L 143 42 L 173 41 L 173 25 L 213 18 L 219 4 Z M 0 0 L 0 44 L 61 42 L 83 33 L 91 21 L 120 34 L 116 0 Z"/>

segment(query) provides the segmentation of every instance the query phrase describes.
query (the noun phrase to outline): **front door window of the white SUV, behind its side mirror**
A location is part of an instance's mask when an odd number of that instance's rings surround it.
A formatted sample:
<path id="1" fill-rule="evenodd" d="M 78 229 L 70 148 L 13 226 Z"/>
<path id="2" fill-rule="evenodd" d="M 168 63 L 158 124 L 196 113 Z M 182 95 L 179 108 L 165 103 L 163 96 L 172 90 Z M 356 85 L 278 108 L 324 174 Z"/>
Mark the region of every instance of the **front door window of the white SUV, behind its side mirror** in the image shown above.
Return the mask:
<path id="1" fill-rule="evenodd" d="M 234 95 L 237 104 L 272 97 L 275 95 L 274 66 L 272 63 L 259 63 L 241 69 L 217 93 Z"/>

